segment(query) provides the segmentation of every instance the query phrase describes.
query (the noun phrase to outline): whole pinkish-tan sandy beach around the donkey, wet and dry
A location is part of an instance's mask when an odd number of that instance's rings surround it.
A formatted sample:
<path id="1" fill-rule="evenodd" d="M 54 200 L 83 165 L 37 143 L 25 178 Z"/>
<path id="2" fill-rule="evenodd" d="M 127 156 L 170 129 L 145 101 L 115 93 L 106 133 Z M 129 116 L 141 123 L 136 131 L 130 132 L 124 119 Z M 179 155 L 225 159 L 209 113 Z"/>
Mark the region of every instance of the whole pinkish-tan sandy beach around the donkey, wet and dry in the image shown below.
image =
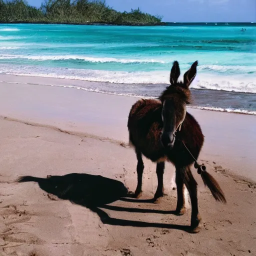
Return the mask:
<path id="1" fill-rule="evenodd" d="M 157 185 L 155 164 L 146 159 L 142 197 L 119 199 L 125 187 L 136 187 L 135 153 L 125 144 L 135 100 L 0 82 L 0 255 L 256 254 L 256 118 L 188 109 L 205 135 L 200 162 L 227 199 L 215 202 L 194 170 L 203 226 L 191 234 L 188 197 L 183 216 L 172 212 L 170 164 L 158 203 L 146 200 Z M 13 182 L 21 175 L 34 181 Z"/>

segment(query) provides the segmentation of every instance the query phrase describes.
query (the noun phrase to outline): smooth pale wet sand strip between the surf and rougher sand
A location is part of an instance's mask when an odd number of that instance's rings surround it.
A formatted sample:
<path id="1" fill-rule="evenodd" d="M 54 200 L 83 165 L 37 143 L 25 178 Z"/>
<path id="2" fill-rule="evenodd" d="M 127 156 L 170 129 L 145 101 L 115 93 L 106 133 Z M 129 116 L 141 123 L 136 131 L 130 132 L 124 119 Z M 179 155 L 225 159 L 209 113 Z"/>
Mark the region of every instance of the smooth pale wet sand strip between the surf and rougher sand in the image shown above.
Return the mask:
<path id="1" fill-rule="evenodd" d="M 0 82 L 0 97 L 0 116 L 117 143 L 128 143 L 127 117 L 138 100 L 59 86 L 4 82 Z M 194 108 L 187 111 L 197 119 L 205 136 L 200 159 L 218 162 L 235 174 L 256 180 L 256 118 Z"/>

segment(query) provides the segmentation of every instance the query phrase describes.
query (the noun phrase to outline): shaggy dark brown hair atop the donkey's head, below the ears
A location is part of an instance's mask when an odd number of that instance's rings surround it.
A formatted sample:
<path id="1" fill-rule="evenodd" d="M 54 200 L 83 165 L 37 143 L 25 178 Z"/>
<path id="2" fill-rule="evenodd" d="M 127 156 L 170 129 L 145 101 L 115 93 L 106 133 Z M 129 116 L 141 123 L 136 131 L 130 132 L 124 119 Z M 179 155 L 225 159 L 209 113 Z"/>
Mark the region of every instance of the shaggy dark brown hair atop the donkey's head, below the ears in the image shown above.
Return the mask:
<path id="1" fill-rule="evenodd" d="M 178 96 L 186 104 L 191 103 L 191 93 L 189 89 L 183 88 L 180 84 L 167 86 L 166 89 L 161 93 L 158 99 L 163 102 L 165 99 L 170 99 L 172 97 Z"/>

